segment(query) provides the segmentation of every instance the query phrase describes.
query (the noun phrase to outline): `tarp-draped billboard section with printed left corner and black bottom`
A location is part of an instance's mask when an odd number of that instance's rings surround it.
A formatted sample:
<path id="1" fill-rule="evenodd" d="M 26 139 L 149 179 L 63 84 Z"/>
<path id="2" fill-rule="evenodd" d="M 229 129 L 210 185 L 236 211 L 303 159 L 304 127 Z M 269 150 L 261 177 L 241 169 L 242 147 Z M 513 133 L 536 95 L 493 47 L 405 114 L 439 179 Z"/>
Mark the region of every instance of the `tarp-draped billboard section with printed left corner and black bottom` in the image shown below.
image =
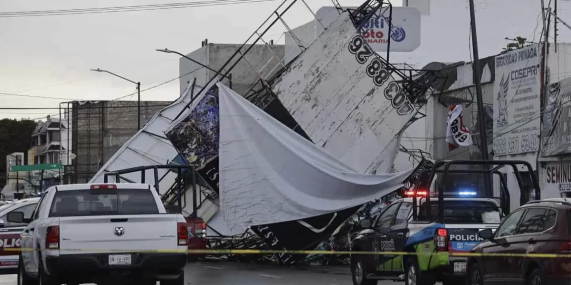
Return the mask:
<path id="1" fill-rule="evenodd" d="M 224 222 L 234 233 L 252 229 L 276 250 L 315 247 L 410 174 L 358 173 L 221 83 L 196 100 L 164 133 L 198 169 L 218 157 L 219 181 L 212 183 L 219 185 Z M 292 231 L 304 234 L 292 242 Z"/>

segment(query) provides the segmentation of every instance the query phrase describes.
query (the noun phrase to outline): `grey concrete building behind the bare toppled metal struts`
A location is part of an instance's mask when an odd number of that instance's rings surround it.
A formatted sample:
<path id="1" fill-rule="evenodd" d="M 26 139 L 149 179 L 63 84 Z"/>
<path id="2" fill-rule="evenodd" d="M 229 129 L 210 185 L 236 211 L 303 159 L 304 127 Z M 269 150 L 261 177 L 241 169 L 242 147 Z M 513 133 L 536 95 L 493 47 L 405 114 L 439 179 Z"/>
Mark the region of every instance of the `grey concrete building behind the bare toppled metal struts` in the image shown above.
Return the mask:
<path id="1" fill-rule="evenodd" d="M 200 63 L 212 68 L 212 70 L 218 71 L 224 63 L 240 48 L 242 44 L 218 44 L 218 43 L 208 43 L 205 46 L 199 48 L 188 54 L 187 56 L 197 60 Z M 246 51 L 251 45 L 244 46 L 242 51 Z M 239 56 L 235 57 L 235 60 L 228 64 L 227 68 L 232 66 Z M 282 67 L 284 58 L 284 46 L 280 44 L 268 45 L 256 44 L 250 51 L 247 52 L 245 59 L 242 59 L 232 68 L 232 89 L 244 95 L 257 80 L 259 80 L 259 75 L 263 78 L 269 78 L 268 75 L 274 74 L 276 71 Z M 249 63 L 249 64 L 248 64 Z M 253 66 L 254 69 L 252 69 Z M 196 84 L 199 86 L 195 88 L 195 92 L 200 91 L 200 87 L 203 87 L 208 80 L 210 80 L 216 72 L 209 71 L 207 68 L 201 68 L 198 64 L 190 62 L 186 58 L 180 58 L 179 60 L 180 68 L 180 93 L 184 91 L 188 82 L 192 82 L 196 78 Z M 228 86 L 228 79 L 223 79 L 222 82 Z M 255 89 L 260 88 L 258 85 Z"/>

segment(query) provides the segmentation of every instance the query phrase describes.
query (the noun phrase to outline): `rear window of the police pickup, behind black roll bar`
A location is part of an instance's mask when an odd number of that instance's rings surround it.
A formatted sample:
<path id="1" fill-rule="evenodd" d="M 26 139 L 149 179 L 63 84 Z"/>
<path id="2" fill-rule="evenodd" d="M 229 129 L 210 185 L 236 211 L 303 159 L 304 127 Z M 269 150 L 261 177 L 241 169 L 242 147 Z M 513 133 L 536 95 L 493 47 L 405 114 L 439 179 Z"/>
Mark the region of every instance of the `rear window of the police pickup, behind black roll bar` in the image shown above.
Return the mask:
<path id="1" fill-rule="evenodd" d="M 419 219 L 432 220 L 438 215 L 438 201 L 420 206 Z M 500 223 L 500 208 L 493 202 L 474 200 L 444 200 L 444 223 Z"/>

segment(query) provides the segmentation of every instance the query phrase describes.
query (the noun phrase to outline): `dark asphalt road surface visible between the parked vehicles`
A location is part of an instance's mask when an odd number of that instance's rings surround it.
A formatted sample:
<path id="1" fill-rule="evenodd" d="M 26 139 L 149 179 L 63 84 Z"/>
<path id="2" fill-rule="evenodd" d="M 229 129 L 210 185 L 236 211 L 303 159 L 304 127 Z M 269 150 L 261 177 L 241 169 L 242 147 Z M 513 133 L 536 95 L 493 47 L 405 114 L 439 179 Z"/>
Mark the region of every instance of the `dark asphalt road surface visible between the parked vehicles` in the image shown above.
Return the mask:
<path id="1" fill-rule="evenodd" d="M 283 268 L 272 265 L 196 262 L 185 270 L 188 285 L 351 285 L 344 267 Z M 16 275 L 0 275 L 0 285 L 16 285 Z M 379 285 L 404 285 L 404 282 L 380 281 Z"/>

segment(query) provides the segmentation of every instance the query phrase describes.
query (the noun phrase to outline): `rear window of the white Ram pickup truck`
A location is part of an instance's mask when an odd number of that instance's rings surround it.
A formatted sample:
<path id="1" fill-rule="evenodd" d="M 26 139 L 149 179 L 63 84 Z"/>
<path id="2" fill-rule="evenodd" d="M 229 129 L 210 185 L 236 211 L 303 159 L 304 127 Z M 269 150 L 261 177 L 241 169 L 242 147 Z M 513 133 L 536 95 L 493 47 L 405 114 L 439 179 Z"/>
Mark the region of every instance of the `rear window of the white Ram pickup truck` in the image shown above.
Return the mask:
<path id="1" fill-rule="evenodd" d="M 146 189 L 69 190 L 55 193 L 50 217 L 158 214 Z"/>

